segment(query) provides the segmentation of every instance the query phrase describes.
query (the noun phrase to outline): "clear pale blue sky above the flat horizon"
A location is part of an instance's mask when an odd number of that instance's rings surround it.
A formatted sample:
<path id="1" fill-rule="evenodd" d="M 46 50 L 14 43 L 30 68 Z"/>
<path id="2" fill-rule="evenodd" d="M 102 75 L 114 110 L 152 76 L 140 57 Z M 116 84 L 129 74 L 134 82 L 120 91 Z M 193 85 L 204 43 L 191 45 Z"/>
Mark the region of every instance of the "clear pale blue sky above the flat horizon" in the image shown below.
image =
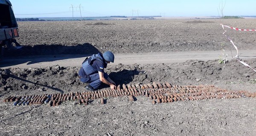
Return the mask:
<path id="1" fill-rule="evenodd" d="M 256 0 L 10 0 L 10 2 L 17 18 L 206 17 L 221 16 L 222 7 L 224 7 L 222 10 L 224 16 L 256 15 Z"/>

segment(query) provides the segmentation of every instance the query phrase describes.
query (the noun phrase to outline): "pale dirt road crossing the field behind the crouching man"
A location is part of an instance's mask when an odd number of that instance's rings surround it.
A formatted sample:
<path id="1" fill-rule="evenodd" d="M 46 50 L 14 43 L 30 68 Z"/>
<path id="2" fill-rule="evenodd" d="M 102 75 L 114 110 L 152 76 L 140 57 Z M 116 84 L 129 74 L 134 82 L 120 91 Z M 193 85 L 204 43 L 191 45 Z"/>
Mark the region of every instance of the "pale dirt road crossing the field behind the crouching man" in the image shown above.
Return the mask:
<path id="1" fill-rule="evenodd" d="M 226 51 L 227 59 L 232 59 L 231 51 Z M 236 51 L 232 51 L 233 57 Z M 110 65 L 119 63 L 125 65 L 131 64 L 155 64 L 155 63 L 173 63 L 185 62 L 189 59 L 198 60 L 215 60 L 219 56 L 223 58 L 221 51 L 183 51 L 183 52 L 152 52 L 142 54 L 115 54 L 115 62 Z M 79 66 L 84 57 L 89 55 L 41 55 L 41 56 L 24 56 L 24 57 L 5 57 L 0 62 L 0 68 L 44 68 L 52 65 L 60 66 Z M 251 59 L 256 57 L 256 50 L 239 51 L 239 58 Z"/>

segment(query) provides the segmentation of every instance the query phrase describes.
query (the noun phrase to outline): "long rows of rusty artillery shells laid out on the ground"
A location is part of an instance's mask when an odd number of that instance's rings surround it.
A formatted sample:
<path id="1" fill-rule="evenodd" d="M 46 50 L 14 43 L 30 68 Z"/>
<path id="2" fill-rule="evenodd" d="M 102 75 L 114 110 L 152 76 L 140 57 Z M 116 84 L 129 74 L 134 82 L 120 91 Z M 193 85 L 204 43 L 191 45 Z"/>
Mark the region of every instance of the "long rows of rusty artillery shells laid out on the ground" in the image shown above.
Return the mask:
<path id="1" fill-rule="evenodd" d="M 169 82 L 153 82 L 152 84 L 142 85 L 118 85 L 116 90 L 101 90 L 89 92 L 70 92 L 68 94 L 44 94 L 29 96 L 9 96 L 3 102 L 14 102 L 14 106 L 48 104 L 49 106 L 58 106 L 61 102 L 76 100 L 79 104 L 87 105 L 91 99 L 101 99 L 104 104 L 104 98 L 129 96 L 130 101 L 134 101 L 135 96 L 146 96 L 152 100 L 152 103 L 175 102 L 175 101 L 193 101 L 201 99 L 230 99 L 240 97 L 255 97 L 256 93 L 247 91 L 227 91 L 225 89 L 215 88 L 214 85 L 171 85 Z M 156 100 L 156 101 L 155 101 Z"/>

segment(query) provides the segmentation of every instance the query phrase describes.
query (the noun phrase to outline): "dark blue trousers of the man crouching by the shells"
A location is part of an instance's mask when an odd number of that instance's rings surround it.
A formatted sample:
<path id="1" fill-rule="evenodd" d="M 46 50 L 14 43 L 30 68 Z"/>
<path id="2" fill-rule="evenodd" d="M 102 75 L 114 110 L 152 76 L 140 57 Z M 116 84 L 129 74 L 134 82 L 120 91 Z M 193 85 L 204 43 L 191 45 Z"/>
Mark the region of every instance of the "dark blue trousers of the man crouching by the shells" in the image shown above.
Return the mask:
<path id="1" fill-rule="evenodd" d="M 108 79 L 108 74 L 107 73 L 104 73 L 104 78 L 105 79 Z M 87 77 L 82 77 L 80 79 L 81 82 L 84 82 L 84 83 L 87 83 L 89 82 L 90 85 L 94 88 L 94 89 L 97 89 L 99 87 L 99 85 L 102 84 L 102 82 L 100 81 L 99 79 L 99 73 L 95 73 L 95 74 L 91 74 Z"/>

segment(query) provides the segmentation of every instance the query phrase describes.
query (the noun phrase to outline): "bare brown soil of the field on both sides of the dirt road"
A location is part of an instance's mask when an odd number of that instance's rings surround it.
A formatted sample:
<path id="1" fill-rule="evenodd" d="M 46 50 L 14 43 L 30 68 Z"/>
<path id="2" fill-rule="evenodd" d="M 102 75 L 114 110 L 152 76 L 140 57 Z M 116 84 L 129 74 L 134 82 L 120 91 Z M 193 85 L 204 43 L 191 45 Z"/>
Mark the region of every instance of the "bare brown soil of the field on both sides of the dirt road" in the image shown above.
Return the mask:
<path id="1" fill-rule="evenodd" d="M 116 20 L 18 22 L 25 45 L 15 55 L 214 51 L 233 49 L 220 23 L 253 28 L 255 20 Z M 94 25 L 86 25 L 86 24 Z M 256 49 L 255 32 L 227 30 L 239 49 Z M 13 56 L 6 50 L 6 56 Z M 256 68 L 255 59 L 247 64 Z M 145 96 L 75 101 L 59 106 L 12 106 L 8 96 L 84 92 L 80 66 L 0 69 L 0 135 L 29 136 L 254 136 L 256 98 L 207 99 L 153 105 Z M 215 85 L 232 91 L 256 92 L 256 72 L 236 60 L 187 60 L 154 65 L 110 65 L 105 70 L 116 84 L 169 82 L 173 85 Z M 110 89 L 107 85 L 99 88 Z"/>

